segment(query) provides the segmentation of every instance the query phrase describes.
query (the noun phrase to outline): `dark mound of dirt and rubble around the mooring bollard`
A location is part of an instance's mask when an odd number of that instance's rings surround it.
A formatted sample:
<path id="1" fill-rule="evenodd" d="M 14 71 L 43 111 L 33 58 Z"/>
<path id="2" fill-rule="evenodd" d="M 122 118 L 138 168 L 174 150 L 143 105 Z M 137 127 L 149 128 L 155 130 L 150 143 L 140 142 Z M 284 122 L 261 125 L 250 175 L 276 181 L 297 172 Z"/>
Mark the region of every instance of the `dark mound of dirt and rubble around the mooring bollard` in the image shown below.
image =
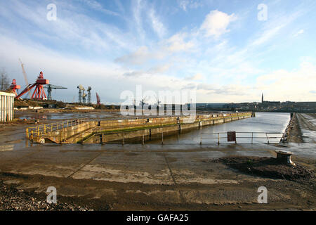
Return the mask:
<path id="1" fill-rule="evenodd" d="M 220 158 L 216 161 L 223 162 L 225 165 L 247 174 L 256 174 L 268 178 L 309 180 L 314 177 L 314 174 L 305 167 L 280 164 L 277 158 L 232 156 Z"/>

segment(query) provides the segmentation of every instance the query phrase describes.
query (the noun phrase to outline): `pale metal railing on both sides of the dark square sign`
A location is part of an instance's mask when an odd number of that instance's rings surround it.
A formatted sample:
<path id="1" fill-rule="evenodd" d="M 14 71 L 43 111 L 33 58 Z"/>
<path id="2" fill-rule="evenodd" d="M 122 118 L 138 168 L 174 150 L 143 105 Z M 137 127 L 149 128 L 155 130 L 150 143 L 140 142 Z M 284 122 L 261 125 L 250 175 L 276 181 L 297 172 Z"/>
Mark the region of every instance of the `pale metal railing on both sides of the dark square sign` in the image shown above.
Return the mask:
<path id="1" fill-rule="evenodd" d="M 284 136 L 284 133 L 282 132 L 235 132 L 235 134 L 236 134 L 236 139 L 235 141 L 233 141 L 235 143 L 237 143 L 237 139 L 249 139 L 248 143 L 254 143 L 254 139 L 265 139 L 266 142 L 264 143 L 279 143 L 279 141 L 273 141 L 273 140 L 279 139 L 280 141 L 282 141 L 282 137 Z M 237 134 L 249 134 L 249 136 L 237 136 Z M 280 136 L 270 136 L 272 134 L 274 135 L 279 134 Z M 203 143 L 204 139 L 216 140 L 216 142 L 211 142 L 211 143 L 218 143 L 218 144 L 220 144 L 220 140 L 226 139 L 227 141 L 225 142 L 222 141 L 221 143 L 232 143 L 231 141 L 228 141 L 228 132 L 202 133 L 200 144 Z"/>

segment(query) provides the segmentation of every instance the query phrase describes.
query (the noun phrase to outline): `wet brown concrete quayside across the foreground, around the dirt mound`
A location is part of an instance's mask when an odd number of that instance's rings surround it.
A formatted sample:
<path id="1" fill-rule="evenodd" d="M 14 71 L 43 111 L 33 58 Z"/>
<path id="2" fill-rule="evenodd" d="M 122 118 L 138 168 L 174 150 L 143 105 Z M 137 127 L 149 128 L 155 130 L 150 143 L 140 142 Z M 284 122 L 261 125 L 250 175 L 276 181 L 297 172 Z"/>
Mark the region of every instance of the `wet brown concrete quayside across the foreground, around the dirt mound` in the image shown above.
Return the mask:
<path id="1" fill-rule="evenodd" d="M 71 198 L 94 210 L 316 210 L 315 180 L 267 179 L 213 161 L 228 155 L 275 157 L 275 150 L 285 149 L 315 172 L 315 143 L 41 145 L 24 138 L 25 127 L 1 131 L 0 172 L 4 184 L 30 195 L 55 186 L 58 200 Z M 258 204 L 260 186 L 268 188 L 268 204 Z"/>

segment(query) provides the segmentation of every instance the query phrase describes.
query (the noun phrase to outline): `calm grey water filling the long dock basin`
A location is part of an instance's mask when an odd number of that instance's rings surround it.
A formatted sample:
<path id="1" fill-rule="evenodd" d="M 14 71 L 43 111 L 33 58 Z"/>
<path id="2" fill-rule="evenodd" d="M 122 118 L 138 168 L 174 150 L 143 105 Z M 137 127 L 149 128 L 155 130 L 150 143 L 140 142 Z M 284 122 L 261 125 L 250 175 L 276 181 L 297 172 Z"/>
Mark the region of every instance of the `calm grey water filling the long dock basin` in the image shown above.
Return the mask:
<path id="1" fill-rule="evenodd" d="M 256 113 L 256 117 L 250 117 L 243 120 L 236 120 L 224 124 L 210 125 L 195 129 L 190 132 L 182 132 L 175 136 L 164 136 L 164 143 L 218 143 L 218 132 L 236 131 L 249 132 L 247 134 L 237 133 L 237 143 L 279 143 L 282 134 L 251 134 L 251 132 L 275 132 L 283 133 L 289 124 L 289 113 Z M 268 139 L 267 139 L 268 136 Z M 274 139 L 273 137 L 276 137 Z M 150 141 L 149 143 L 159 143 L 161 140 Z M 227 134 L 220 134 L 220 143 L 228 143 Z"/>

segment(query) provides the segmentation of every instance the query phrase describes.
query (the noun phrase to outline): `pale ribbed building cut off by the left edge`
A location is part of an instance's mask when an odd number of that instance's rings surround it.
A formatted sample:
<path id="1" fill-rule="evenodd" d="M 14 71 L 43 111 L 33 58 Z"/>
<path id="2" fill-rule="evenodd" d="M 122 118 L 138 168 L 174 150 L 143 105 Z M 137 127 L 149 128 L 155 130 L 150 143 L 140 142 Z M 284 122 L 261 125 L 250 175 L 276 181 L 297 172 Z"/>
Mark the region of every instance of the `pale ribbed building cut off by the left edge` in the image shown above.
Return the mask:
<path id="1" fill-rule="evenodd" d="M 15 94 L 0 91 L 0 122 L 7 122 L 14 118 Z"/>

